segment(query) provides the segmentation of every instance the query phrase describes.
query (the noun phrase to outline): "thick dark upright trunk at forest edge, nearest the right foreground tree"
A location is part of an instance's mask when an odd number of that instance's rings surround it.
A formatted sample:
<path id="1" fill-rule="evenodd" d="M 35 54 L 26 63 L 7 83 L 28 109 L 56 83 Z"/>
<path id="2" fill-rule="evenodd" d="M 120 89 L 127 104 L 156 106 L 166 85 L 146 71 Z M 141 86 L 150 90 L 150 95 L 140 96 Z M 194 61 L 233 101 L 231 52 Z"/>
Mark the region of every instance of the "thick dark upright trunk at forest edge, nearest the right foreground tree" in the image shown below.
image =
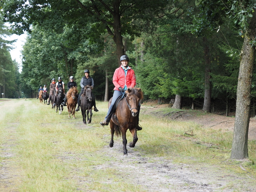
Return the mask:
<path id="1" fill-rule="evenodd" d="M 202 111 L 211 112 L 211 69 L 210 69 L 210 56 L 209 46 L 206 37 L 203 37 L 204 42 L 204 57 L 205 57 L 205 74 L 204 74 L 204 106 Z"/>

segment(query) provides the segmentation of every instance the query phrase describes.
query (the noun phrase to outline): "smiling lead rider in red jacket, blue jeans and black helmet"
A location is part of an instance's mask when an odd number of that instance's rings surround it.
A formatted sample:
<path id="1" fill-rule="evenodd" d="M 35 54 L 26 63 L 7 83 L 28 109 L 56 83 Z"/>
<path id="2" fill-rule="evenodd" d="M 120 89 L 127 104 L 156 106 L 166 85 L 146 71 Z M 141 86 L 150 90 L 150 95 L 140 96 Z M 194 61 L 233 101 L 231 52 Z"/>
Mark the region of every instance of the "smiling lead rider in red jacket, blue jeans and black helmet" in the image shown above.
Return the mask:
<path id="1" fill-rule="evenodd" d="M 109 121 L 111 119 L 111 116 L 113 114 L 113 111 L 111 110 L 114 106 L 116 99 L 125 93 L 125 90 L 128 88 L 133 88 L 136 85 L 136 78 L 135 73 L 133 69 L 131 69 L 130 66 L 128 66 L 129 63 L 129 57 L 127 55 L 122 55 L 120 57 L 121 66 L 118 67 L 113 75 L 113 84 L 114 84 L 114 94 L 112 97 L 111 105 L 109 106 L 109 110 L 107 111 L 107 116 L 103 121 L 100 121 L 100 125 L 105 126 L 109 125 Z M 140 106 L 138 109 L 138 115 L 140 111 Z M 138 117 L 137 115 L 137 117 Z M 137 125 L 136 129 L 142 130 L 142 127 L 140 125 Z"/>

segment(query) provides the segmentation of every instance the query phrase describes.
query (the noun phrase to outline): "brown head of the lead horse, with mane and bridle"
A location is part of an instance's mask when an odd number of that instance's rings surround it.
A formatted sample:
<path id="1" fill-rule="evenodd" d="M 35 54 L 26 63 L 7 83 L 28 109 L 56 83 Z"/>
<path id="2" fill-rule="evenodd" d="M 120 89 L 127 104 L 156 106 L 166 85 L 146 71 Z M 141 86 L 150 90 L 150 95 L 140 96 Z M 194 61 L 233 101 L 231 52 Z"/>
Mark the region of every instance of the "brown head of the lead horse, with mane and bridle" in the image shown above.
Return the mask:
<path id="1" fill-rule="evenodd" d="M 126 93 L 126 97 L 128 97 L 128 107 L 131 111 L 131 115 L 135 117 L 138 114 L 138 107 L 140 100 L 143 99 L 143 93 L 140 88 L 128 88 Z"/>

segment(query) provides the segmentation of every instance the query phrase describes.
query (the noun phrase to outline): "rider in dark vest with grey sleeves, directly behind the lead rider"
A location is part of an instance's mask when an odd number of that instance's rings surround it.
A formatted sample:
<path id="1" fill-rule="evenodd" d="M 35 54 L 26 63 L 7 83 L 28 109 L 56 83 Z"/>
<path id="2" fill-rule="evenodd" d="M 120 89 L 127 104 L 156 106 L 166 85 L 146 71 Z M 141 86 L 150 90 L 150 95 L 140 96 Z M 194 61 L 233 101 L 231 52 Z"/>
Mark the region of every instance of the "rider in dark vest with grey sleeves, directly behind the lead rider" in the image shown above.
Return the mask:
<path id="1" fill-rule="evenodd" d="M 85 69 L 85 76 L 81 79 L 80 81 L 80 86 L 81 86 L 81 92 L 78 96 L 78 106 L 76 108 L 76 111 L 79 111 L 79 107 L 80 107 L 80 97 L 81 95 L 83 94 L 83 90 L 84 90 L 84 87 L 86 85 L 89 85 L 89 86 L 92 86 L 92 88 L 94 87 L 94 81 L 93 81 L 93 78 L 90 77 L 90 71 L 88 69 Z M 96 102 L 95 102 L 95 98 L 94 98 L 94 95 L 92 93 L 92 102 L 93 102 L 93 106 L 94 106 L 94 111 L 95 112 L 98 112 L 99 110 L 96 108 Z"/>

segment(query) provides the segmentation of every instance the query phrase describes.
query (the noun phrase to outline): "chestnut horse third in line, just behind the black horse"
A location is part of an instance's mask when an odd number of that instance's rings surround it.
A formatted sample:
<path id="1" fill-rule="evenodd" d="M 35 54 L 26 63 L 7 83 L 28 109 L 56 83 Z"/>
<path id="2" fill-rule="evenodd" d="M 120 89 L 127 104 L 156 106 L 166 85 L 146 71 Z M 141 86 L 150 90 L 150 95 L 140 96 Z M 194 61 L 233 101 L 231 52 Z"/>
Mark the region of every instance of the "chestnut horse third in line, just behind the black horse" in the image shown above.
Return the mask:
<path id="1" fill-rule="evenodd" d="M 77 104 L 77 95 L 78 90 L 76 86 L 73 86 L 69 89 L 67 92 L 67 111 L 68 111 L 68 116 L 70 118 L 70 114 L 73 115 L 73 118 L 76 118 L 74 116 L 75 114 L 75 109 L 76 109 L 76 104 Z"/>

